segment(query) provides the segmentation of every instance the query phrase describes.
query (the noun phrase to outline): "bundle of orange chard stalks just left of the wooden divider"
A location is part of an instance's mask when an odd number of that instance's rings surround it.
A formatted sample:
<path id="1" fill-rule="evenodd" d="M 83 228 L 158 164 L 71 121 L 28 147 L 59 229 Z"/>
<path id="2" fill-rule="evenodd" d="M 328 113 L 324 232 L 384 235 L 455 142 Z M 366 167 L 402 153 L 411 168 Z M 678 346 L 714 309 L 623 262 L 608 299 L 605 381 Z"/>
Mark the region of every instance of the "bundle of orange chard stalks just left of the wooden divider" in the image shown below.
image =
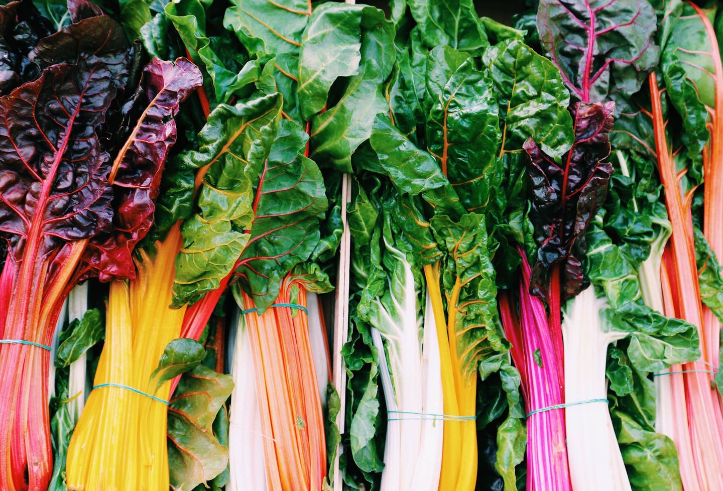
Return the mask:
<path id="1" fill-rule="evenodd" d="M 289 304 L 295 281 L 285 281 L 277 303 Z M 306 290 L 296 302 L 306 308 Z M 254 304 L 242 293 L 245 306 Z M 326 443 L 316 368 L 304 309 L 244 311 L 256 369 L 264 454 L 270 491 L 321 491 L 327 474 Z"/>

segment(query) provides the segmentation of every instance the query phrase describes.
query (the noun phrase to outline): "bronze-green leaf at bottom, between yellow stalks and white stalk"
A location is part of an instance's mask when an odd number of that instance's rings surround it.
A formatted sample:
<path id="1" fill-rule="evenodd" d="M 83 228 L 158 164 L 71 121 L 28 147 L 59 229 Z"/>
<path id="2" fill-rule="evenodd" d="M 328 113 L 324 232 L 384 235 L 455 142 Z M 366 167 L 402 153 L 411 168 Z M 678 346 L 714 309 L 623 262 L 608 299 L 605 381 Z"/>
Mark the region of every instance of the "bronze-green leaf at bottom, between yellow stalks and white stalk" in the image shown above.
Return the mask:
<path id="1" fill-rule="evenodd" d="M 192 490 L 226 469 L 228 447 L 218 441 L 212 426 L 233 388 L 231 375 L 218 374 L 203 365 L 181 377 L 168 401 L 171 489 Z"/>

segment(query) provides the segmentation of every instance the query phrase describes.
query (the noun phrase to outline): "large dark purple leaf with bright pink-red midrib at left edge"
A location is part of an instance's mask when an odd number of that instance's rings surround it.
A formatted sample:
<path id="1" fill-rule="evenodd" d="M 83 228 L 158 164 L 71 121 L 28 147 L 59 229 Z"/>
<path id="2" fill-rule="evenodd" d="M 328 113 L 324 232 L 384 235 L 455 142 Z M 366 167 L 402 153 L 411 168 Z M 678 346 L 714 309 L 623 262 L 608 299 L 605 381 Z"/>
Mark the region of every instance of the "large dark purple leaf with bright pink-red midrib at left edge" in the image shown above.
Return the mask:
<path id="1" fill-rule="evenodd" d="M 124 68 L 84 57 L 48 68 L 0 99 L 0 233 L 18 260 L 33 230 L 42 234 L 38 257 L 44 257 L 64 242 L 110 229 L 110 163 L 95 127 Z"/>

